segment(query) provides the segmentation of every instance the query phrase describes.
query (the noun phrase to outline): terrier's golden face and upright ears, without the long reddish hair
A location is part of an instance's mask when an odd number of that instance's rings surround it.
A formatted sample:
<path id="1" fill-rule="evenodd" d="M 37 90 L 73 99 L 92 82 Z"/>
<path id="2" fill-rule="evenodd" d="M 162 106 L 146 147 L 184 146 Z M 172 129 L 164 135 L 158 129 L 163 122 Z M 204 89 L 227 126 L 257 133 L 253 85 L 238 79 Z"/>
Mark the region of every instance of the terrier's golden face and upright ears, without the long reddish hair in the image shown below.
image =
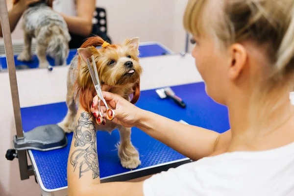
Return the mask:
<path id="1" fill-rule="evenodd" d="M 125 86 L 140 79 L 142 67 L 139 62 L 139 38 L 126 39 L 122 45 L 105 48 L 78 49 L 84 63 L 94 55 L 101 83 L 109 86 Z M 87 66 L 85 64 L 85 66 Z M 86 67 L 88 69 L 88 67 Z"/>

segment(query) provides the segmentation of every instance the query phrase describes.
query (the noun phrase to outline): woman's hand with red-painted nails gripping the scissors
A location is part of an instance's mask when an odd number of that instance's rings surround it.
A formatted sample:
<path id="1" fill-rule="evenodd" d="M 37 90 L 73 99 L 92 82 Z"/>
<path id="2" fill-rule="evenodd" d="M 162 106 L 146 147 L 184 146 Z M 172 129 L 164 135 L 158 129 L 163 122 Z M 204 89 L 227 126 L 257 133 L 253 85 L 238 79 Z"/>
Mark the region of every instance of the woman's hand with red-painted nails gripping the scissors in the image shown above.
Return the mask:
<path id="1" fill-rule="evenodd" d="M 108 107 L 113 108 L 115 111 L 115 118 L 112 120 L 114 123 L 123 125 L 125 127 L 133 127 L 137 125 L 138 121 L 140 120 L 140 108 L 136 107 L 119 95 L 105 91 L 102 92 L 102 95 L 106 100 Z M 100 104 L 103 117 L 106 118 L 106 107 L 102 100 L 100 101 Z M 93 98 L 91 111 L 95 117 L 98 116 L 98 96 Z"/>

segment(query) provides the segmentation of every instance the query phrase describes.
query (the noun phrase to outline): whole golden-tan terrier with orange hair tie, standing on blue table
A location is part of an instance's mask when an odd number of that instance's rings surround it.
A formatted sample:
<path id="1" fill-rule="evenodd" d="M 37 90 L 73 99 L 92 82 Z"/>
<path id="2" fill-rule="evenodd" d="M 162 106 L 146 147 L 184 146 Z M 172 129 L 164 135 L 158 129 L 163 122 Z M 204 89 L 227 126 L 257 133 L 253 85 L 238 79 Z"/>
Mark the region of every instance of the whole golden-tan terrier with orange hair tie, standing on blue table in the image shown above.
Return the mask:
<path id="1" fill-rule="evenodd" d="M 98 46 L 103 47 L 96 49 Z M 88 38 L 78 49 L 78 55 L 73 58 L 67 75 L 68 112 L 64 120 L 58 123 L 67 133 L 74 130 L 76 107 L 80 105 L 91 114 L 91 104 L 97 93 L 86 59 L 91 59 L 92 55 L 95 57 L 101 86 L 103 84 L 110 86 L 109 92 L 119 94 L 133 104 L 140 96 L 142 67 L 138 58 L 139 38 L 126 39 L 121 45 L 109 45 L 98 36 Z M 106 119 L 105 121 L 104 125 L 98 125 L 98 130 L 111 132 L 118 129 L 120 132 L 118 155 L 122 166 L 128 169 L 137 168 L 141 165 L 141 161 L 139 152 L 130 141 L 131 128 L 117 125 Z"/>

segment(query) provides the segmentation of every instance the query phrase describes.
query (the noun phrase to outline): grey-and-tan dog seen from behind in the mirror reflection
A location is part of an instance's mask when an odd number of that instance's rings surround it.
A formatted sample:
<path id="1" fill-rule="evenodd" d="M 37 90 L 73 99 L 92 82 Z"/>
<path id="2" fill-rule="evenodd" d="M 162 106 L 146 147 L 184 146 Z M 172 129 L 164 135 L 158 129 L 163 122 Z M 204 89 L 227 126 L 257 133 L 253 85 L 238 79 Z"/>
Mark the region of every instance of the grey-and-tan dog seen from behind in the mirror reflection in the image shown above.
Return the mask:
<path id="1" fill-rule="evenodd" d="M 19 0 L 14 0 L 13 4 Z M 65 65 L 69 54 L 71 36 L 62 16 L 54 12 L 53 0 L 40 0 L 28 6 L 23 14 L 24 50 L 19 61 L 31 61 L 31 42 L 36 38 L 36 53 L 40 68 L 49 67 L 47 54 L 55 59 L 55 65 Z"/>

